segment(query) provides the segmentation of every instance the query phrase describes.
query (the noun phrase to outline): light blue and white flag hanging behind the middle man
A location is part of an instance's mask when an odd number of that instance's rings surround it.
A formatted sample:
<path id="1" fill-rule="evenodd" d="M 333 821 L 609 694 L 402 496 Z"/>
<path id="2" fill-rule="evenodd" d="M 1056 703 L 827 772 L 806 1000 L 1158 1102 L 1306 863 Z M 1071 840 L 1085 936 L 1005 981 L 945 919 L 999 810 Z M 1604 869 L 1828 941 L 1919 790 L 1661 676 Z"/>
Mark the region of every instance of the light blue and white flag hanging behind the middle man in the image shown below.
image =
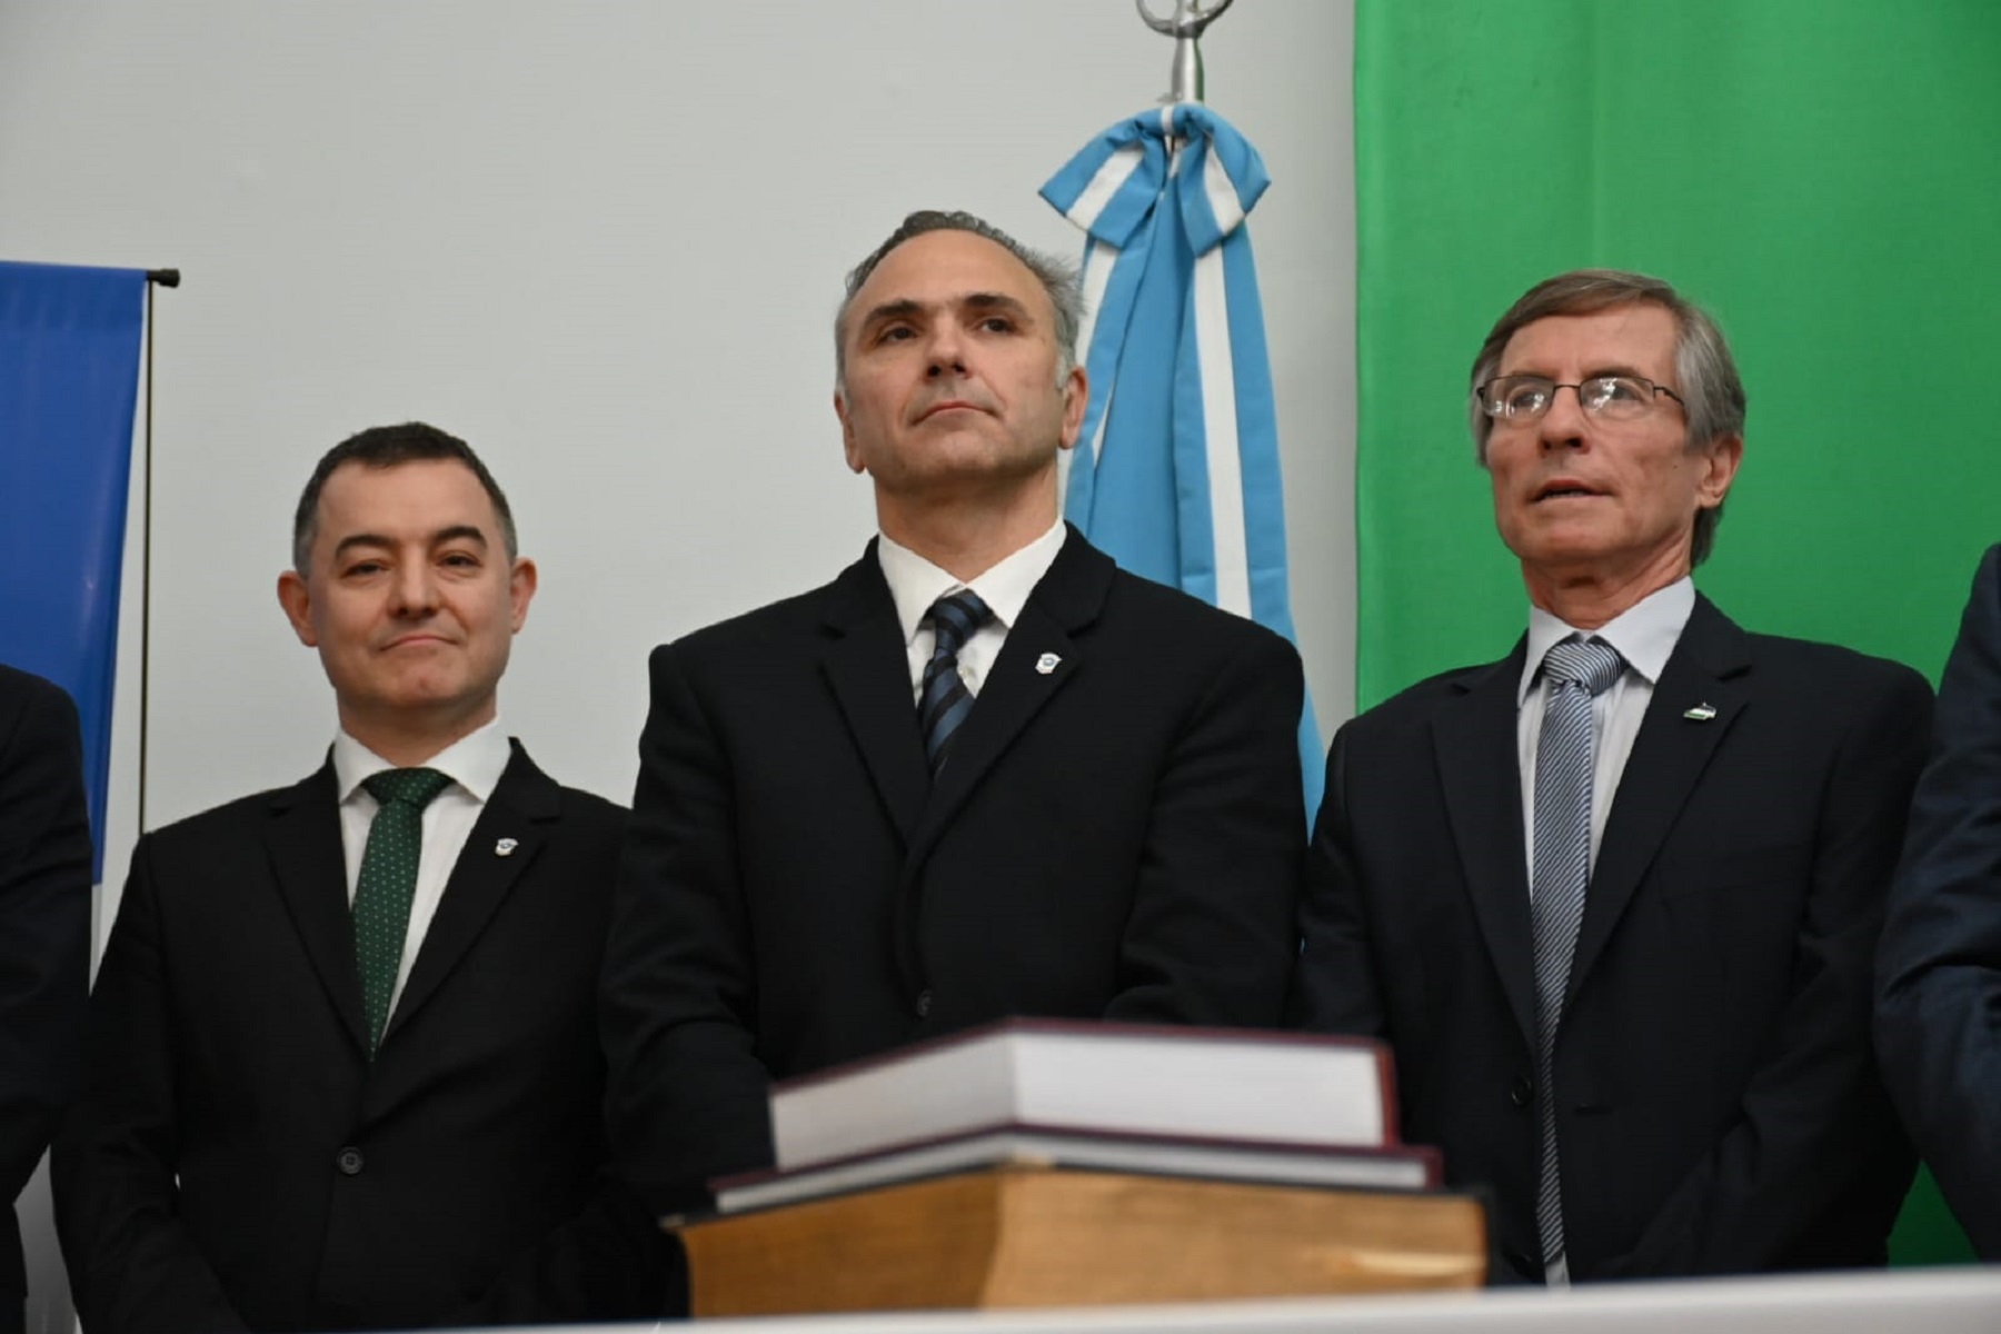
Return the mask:
<path id="1" fill-rule="evenodd" d="M 1285 638 L 1285 486 L 1265 306 L 1245 216 L 1271 178 L 1257 148 L 1199 102 L 1101 134 L 1043 186 L 1087 232 L 1091 402 L 1065 516 L 1133 574 Z M 1307 818 L 1325 752 L 1299 720 Z"/>

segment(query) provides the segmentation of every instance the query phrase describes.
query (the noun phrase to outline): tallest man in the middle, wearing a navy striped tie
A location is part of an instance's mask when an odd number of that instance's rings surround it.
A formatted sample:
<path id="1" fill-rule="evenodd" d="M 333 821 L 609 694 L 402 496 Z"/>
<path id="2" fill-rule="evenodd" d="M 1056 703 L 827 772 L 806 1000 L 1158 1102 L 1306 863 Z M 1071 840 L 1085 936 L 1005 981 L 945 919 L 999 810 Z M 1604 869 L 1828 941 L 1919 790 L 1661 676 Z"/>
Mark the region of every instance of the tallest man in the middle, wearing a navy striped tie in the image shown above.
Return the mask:
<path id="1" fill-rule="evenodd" d="M 834 322 L 876 540 L 652 656 L 602 1020 L 660 1210 L 770 1162 L 772 1078 L 1009 1014 L 1279 1020 L 1299 656 L 1057 518 L 1077 326 L 1065 264 L 906 218 Z"/>

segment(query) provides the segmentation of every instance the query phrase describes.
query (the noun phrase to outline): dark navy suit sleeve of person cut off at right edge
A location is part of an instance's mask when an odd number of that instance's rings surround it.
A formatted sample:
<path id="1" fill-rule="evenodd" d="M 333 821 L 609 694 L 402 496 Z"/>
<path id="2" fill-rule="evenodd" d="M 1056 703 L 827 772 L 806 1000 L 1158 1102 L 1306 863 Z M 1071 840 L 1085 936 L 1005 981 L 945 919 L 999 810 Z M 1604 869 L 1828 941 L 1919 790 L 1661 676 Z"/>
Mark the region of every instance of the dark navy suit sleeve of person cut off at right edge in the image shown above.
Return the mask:
<path id="1" fill-rule="evenodd" d="M 1973 1246 L 2001 1260 L 2001 546 L 1939 684 L 1877 980 L 1903 1122 Z"/>

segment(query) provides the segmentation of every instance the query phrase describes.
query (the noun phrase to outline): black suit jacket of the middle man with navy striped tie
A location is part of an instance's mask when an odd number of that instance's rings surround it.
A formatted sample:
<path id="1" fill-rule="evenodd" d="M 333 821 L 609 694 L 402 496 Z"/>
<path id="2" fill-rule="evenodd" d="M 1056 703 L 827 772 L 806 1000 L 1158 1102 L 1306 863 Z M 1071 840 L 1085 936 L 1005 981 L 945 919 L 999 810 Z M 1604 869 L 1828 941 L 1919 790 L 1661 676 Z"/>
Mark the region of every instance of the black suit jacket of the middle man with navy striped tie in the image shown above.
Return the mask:
<path id="1" fill-rule="evenodd" d="M 620 1166 L 688 1202 L 770 1160 L 772 1076 L 998 1016 L 1277 1024 L 1301 690 L 1283 638 L 1075 530 L 936 786 L 872 544 L 658 648 L 606 952 Z"/>

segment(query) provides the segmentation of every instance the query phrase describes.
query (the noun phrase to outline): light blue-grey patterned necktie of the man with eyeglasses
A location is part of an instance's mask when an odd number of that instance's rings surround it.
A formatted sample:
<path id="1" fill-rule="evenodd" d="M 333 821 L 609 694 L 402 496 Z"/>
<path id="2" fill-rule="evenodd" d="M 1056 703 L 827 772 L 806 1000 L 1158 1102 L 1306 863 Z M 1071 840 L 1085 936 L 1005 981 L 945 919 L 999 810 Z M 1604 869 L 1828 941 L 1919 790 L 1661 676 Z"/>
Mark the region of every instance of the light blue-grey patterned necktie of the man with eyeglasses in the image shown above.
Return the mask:
<path id="1" fill-rule="evenodd" d="M 1605 640 L 1575 634 L 1543 658 L 1549 698 L 1535 746 L 1535 1020 L 1537 1084 L 1541 1086 L 1543 1176 L 1535 1222 L 1543 1262 L 1563 1254 L 1563 1182 L 1557 1174 L 1557 1024 L 1571 984 L 1577 926 L 1585 920 L 1591 884 L 1591 700 L 1625 668 Z"/>

